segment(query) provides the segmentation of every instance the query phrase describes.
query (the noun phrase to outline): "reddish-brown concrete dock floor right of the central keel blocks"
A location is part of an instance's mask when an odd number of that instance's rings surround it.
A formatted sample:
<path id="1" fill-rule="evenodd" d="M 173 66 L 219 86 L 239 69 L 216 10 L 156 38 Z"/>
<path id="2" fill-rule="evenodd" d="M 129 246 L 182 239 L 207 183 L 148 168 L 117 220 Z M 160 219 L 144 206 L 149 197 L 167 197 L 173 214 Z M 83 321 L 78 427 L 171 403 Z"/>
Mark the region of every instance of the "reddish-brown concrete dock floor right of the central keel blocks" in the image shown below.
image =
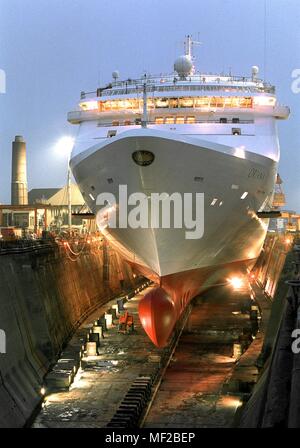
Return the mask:
<path id="1" fill-rule="evenodd" d="M 144 427 L 224 428 L 234 425 L 242 404 L 238 394 L 223 392 L 236 363 L 233 343 L 249 315 L 242 314 L 249 291 L 210 290 L 192 309 L 173 359 L 162 380 Z"/>

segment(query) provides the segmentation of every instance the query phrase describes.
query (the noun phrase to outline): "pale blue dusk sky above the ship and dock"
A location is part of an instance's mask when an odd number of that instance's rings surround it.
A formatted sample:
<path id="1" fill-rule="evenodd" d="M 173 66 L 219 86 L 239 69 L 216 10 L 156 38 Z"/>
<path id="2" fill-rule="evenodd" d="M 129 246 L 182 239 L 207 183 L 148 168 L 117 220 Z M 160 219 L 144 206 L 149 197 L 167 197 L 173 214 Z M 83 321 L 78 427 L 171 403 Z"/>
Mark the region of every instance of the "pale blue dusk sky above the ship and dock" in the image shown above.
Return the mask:
<path id="1" fill-rule="evenodd" d="M 207 72 L 260 74 L 291 108 L 279 123 L 280 175 L 287 208 L 300 212 L 300 93 L 292 71 L 300 69 L 300 1 L 266 0 L 0 0 L 0 202 L 10 201 L 11 141 L 23 135 L 28 148 L 29 188 L 62 186 L 65 156 L 57 140 L 76 135 L 67 123 L 82 90 L 145 70 L 173 70 L 186 34 L 201 40 L 196 67 Z M 266 73 L 264 73 L 264 67 Z"/>

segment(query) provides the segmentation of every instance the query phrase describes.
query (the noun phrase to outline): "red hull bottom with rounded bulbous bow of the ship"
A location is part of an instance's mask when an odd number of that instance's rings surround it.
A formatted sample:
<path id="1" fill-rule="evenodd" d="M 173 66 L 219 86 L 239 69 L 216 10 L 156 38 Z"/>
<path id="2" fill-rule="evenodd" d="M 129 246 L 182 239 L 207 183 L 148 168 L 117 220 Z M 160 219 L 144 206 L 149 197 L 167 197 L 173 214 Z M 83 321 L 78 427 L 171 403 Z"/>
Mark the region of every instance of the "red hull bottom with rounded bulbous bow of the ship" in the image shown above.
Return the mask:
<path id="1" fill-rule="evenodd" d="M 140 321 L 151 341 L 157 347 L 166 346 L 177 320 L 192 298 L 211 286 L 226 282 L 228 277 L 245 274 L 255 261 L 243 260 L 164 277 L 156 277 L 141 266 L 135 266 L 157 284 L 139 304 Z"/>

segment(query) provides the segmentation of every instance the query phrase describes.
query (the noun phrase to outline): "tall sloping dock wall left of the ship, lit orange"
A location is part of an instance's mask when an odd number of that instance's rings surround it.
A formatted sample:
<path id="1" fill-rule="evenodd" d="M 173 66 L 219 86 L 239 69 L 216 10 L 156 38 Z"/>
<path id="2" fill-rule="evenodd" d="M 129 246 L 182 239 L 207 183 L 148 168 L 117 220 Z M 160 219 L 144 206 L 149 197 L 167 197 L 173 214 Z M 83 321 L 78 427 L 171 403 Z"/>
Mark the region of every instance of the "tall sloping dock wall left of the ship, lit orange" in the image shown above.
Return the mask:
<path id="1" fill-rule="evenodd" d="M 74 330 L 135 282 L 100 238 L 0 250 L 0 427 L 26 424 Z"/>

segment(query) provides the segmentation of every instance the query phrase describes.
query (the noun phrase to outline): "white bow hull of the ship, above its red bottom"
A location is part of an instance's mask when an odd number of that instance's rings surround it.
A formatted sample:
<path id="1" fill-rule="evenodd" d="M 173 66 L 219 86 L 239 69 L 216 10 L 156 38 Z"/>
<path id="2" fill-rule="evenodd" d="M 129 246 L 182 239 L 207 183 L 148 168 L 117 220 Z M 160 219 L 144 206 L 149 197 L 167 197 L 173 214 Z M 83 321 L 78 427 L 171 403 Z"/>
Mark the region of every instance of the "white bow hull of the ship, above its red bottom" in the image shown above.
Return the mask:
<path id="1" fill-rule="evenodd" d="M 134 163 L 132 153 L 140 149 L 155 154 L 152 165 Z M 100 207 L 89 194 L 96 199 L 98 194 L 110 192 L 118 198 L 119 185 L 127 185 L 128 195 L 204 193 L 204 234 L 200 239 L 186 239 L 186 228 L 105 229 L 130 262 L 162 277 L 259 255 L 267 222 L 256 212 L 272 200 L 277 164 L 261 155 L 244 152 L 241 158 L 234 153 L 233 148 L 204 140 L 141 129 L 92 147 L 71 165 L 95 213 Z M 245 192 L 246 198 L 241 199 Z M 217 202 L 211 205 L 214 198 Z"/>

